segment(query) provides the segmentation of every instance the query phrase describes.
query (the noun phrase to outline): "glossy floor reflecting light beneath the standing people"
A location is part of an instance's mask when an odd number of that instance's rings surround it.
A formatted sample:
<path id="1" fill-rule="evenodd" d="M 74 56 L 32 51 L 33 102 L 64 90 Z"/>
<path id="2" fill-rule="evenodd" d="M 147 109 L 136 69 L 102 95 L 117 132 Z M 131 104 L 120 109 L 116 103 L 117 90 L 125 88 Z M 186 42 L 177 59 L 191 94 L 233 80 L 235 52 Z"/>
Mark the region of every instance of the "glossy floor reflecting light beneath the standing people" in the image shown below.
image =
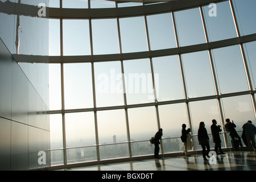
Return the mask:
<path id="1" fill-rule="evenodd" d="M 214 160 L 216 159 L 216 160 Z M 201 154 L 68 168 L 67 171 L 255 171 L 256 152 L 230 151 L 203 160 Z"/>

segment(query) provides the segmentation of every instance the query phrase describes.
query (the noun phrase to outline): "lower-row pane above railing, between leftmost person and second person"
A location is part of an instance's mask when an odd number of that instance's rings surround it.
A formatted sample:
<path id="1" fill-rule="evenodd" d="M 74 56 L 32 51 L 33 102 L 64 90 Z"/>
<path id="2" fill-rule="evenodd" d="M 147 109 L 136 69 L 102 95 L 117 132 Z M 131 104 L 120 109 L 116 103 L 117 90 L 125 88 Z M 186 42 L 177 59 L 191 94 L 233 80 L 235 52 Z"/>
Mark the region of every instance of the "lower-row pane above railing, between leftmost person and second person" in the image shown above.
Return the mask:
<path id="1" fill-rule="evenodd" d="M 188 125 L 187 108 L 184 103 L 158 106 L 160 127 L 164 130 L 163 138 L 181 135 L 181 125 Z M 180 142 L 180 138 L 179 138 Z"/>

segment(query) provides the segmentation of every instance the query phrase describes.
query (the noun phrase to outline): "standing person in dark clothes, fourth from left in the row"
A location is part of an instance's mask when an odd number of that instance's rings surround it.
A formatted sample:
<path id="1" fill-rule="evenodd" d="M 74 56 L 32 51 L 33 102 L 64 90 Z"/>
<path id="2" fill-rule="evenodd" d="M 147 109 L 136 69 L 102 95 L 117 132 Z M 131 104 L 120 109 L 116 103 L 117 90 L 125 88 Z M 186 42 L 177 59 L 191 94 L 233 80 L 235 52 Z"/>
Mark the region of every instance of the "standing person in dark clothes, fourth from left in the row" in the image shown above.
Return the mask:
<path id="1" fill-rule="evenodd" d="M 220 150 L 220 154 L 224 154 L 224 152 L 221 150 L 220 131 L 222 130 L 220 127 L 220 125 L 217 126 L 217 121 L 213 119 L 212 126 L 210 126 L 210 130 L 212 131 L 213 143 L 215 143 L 214 151 L 216 152 L 216 154 L 219 154 L 218 149 Z"/>

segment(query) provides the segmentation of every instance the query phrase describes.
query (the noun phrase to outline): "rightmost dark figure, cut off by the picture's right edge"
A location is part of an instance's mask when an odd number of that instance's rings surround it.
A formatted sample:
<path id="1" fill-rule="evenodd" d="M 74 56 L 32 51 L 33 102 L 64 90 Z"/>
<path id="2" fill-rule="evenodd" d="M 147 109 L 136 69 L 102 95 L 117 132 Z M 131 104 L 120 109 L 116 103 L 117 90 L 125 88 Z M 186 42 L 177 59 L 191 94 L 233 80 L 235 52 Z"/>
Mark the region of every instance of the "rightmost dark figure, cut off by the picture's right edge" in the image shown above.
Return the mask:
<path id="1" fill-rule="evenodd" d="M 248 149 L 250 151 L 256 150 L 255 146 L 255 134 L 256 134 L 256 127 L 253 125 L 253 123 L 249 120 L 247 123 L 243 125 L 243 130 L 245 131 L 245 137 L 247 139 L 247 145 Z"/>

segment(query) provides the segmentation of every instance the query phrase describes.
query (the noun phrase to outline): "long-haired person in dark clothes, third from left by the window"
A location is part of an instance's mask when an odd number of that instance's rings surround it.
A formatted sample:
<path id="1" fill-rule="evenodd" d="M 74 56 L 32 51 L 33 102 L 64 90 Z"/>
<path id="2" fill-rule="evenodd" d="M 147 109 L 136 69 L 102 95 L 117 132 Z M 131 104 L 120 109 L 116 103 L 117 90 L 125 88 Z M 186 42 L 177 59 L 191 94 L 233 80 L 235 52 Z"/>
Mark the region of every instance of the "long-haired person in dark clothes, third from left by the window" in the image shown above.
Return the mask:
<path id="1" fill-rule="evenodd" d="M 198 134 L 197 134 L 199 144 L 201 145 L 203 149 L 203 158 L 204 160 L 208 160 L 210 158 L 209 152 L 210 152 L 210 145 L 209 145 L 209 137 L 207 133 L 207 129 L 205 129 L 204 122 L 199 123 L 199 129 L 198 129 Z M 205 150 L 205 147 L 207 148 L 207 151 Z"/>

